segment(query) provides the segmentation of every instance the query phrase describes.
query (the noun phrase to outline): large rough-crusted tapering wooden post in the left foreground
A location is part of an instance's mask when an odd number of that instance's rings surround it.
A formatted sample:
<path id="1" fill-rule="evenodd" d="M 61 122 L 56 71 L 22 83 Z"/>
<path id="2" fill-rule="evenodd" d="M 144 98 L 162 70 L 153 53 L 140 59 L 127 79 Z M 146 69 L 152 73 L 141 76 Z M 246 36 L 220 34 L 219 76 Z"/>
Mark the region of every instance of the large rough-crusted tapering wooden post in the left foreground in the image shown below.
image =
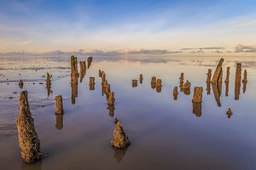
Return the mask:
<path id="1" fill-rule="evenodd" d="M 30 112 L 27 92 L 20 93 L 20 115 L 16 120 L 21 158 L 26 163 L 41 159 L 40 142 Z"/>

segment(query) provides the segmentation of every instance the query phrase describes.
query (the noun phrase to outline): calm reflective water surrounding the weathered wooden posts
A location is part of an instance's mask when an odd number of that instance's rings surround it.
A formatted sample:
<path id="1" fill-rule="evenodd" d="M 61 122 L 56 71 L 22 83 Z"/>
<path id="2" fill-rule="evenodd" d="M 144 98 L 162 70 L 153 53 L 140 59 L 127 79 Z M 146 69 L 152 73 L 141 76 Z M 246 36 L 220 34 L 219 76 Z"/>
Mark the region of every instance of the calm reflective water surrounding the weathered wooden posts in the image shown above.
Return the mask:
<path id="1" fill-rule="evenodd" d="M 224 78 L 230 66 L 229 93 L 226 95 L 223 83 L 217 89 L 219 100 L 212 91 L 214 87 L 208 94 L 206 83 L 207 69 L 214 71 L 218 59 L 94 58 L 72 102 L 68 56 L 1 58 L 1 169 L 256 169 L 256 59 L 224 58 Z M 237 62 L 241 62 L 242 73 L 247 69 L 248 82 L 244 93 L 241 84 L 239 99 L 235 100 Z M 99 69 L 107 73 L 115 93 L 114 111 L 102 96 Z M 46 72 L 53 75 L 49 96 L 43 77 Z M 178 90 L 174 100 L 172 90 L 179 85 L 181 72 L 192 83 L 191 94 Z M 143 83 L 132 88 L 131 80 L 138 79 L 139 74 L 143 74 Z M 153 76 L 162 79 L 160 93 L 150 86 Z M 95 90 L 89 88 L 89 77 L 96 77 Z M 32 165 L 20 159 L 15 127 L 20 79 L 25 81 L 22 90 L 28 91 L 41 150 L 49 155 Z M 202 86 L 204 93 L 201 111 L 193 113 L 195 86 Z M 63 116 L 55 116 L 54 98 L 59 94 L 64 99 Z M 233 111 L 230 118 L 226 115 L 229 107 Z M 123 124 L 131 141 L 127 150 L 110 146 L 114 117 Z"/>

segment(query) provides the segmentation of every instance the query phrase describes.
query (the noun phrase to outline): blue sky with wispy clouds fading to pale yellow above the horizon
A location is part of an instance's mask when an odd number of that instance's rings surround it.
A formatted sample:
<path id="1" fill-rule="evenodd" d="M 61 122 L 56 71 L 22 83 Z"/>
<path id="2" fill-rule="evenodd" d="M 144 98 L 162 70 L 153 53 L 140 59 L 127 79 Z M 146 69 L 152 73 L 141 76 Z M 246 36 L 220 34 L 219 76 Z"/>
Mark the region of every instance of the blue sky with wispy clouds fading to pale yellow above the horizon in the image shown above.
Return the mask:
<path id="1" fill-rule="evenodd" d="M 255 0 L 0 0 L 0 52 L 256 51 Z"/>

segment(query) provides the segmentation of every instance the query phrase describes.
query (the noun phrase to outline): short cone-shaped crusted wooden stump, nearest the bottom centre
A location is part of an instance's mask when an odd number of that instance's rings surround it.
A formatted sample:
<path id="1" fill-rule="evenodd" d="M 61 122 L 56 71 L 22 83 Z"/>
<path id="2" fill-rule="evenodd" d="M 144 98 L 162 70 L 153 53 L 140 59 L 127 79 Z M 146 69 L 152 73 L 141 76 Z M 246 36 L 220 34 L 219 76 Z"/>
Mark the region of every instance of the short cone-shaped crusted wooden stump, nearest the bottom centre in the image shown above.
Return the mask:
<path id="1" fill-rule="evenodd" d="M 116 119 L 115 127 L 113 130 L 113 139 L 110 143 L 113 147 L 124 149 L 125 147 L 129 146 L 131 143 L 128 137 L 125 134 L 122 124 Z"/>

